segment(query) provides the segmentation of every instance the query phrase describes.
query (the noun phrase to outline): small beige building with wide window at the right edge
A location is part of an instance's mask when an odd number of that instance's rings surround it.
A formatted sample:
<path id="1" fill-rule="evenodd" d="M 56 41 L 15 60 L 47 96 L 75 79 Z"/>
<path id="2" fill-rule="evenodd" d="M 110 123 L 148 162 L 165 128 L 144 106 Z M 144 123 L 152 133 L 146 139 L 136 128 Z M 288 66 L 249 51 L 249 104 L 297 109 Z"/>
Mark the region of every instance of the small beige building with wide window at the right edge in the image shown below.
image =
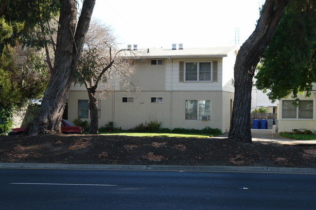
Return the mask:
<path id="1" fill-rule="evenodd" d="M 316 86 L 314 84 L 310 97 L 298 96 L 298 106 L 293 106 L 294 99 L 289 96 L 279 101 L 278 105 L 278 132 L 304 131 L 316 132 L 315 113 Z"/>

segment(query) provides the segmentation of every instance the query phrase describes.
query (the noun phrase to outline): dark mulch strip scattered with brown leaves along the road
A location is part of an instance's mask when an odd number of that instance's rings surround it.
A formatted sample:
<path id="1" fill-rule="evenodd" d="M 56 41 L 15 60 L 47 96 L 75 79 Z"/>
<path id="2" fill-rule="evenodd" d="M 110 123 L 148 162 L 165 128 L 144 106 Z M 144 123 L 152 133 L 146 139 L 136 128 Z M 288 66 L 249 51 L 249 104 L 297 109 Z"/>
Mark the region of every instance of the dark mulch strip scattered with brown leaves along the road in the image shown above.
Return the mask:
<path id="1" fill-rule="evenodd" d="M 0 136 L 0 162 L 316 168 L 316 146 L 216 138 L 19 135 Z"/>

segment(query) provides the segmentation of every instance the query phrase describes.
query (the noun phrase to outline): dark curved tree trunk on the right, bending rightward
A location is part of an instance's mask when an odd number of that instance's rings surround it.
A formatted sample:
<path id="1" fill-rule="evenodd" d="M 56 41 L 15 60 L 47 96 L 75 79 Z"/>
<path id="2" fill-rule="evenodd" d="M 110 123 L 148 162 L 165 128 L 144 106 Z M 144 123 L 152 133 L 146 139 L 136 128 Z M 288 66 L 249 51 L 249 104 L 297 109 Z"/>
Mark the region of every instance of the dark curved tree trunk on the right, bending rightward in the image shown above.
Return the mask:
<path id="1" fill-rule="evenodd" d="M 235 95 L 228 139 L 251 143 L 252 79 L 264 50 L 279 26 L 289 0 L 266 0 L 255 31 L 240 48 L 234 66 Z"/>

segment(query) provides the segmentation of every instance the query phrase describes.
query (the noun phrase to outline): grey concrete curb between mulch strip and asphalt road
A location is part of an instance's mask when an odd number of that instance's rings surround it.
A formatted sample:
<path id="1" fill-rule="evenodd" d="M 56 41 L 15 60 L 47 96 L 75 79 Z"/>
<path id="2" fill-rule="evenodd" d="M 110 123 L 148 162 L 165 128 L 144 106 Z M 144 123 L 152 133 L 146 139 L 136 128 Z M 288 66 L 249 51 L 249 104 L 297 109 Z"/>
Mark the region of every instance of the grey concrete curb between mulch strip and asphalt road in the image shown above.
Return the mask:
<path id="1" fill-rule="evenodd" d="M 187 166 L 187 165 L 102 165 L 102 164 L 60 164 L 60 163 L 0 163 L 0 168 L 41 169 L 99 169 L 99 170 L 153 170 L 153 171 L 205 171 L 205 172 L 266 172 L 316 174 L 316 168 L 279 168 L 249 166 Z"/>

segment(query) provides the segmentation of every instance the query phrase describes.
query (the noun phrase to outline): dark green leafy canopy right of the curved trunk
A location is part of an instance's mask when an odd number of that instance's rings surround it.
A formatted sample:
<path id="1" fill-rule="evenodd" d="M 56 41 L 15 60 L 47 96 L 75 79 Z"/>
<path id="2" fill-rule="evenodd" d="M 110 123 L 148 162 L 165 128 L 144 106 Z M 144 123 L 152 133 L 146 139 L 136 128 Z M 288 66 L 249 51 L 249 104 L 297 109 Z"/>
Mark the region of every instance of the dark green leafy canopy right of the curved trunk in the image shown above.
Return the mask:
<path id="1" fill-rule="evenodd" d="M 258 66 L 256 86 L 267 91 L 273 102 L 293 98 L 306 91 L 310 96 L 316 82 L 315 0 L 290 1 L 281 23 Z"/>

